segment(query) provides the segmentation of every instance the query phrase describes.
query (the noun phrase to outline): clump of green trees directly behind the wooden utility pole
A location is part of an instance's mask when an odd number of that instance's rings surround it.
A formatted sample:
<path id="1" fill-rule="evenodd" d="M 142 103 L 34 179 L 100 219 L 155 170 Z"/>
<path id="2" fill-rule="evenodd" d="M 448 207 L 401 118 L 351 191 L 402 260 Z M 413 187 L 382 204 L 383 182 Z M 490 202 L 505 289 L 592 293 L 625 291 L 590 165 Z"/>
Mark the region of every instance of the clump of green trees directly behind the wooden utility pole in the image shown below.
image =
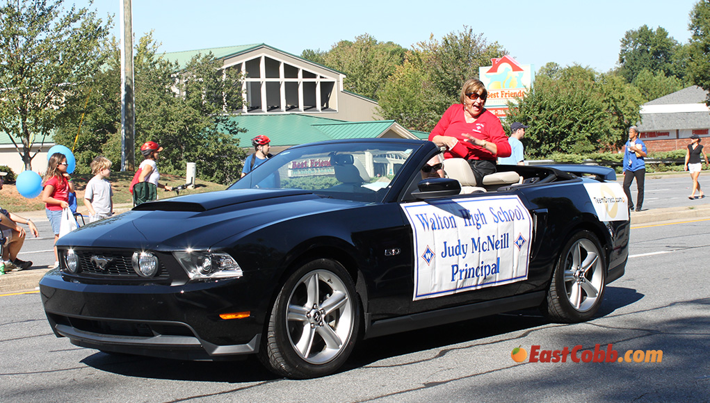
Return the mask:
<path id="1" fill-rule="evenodd" d="M 121 99 L 119 48 L 115 40 L 107 44 L 105 68 L 92 77 L 84 92 L 88 99 L 86 117 L 78 136 L 77 170 L 87 172 L 96 155 L 105 155 L 118 164 L 121 158 Z M 136 45 L 136 151 L 147 140 L 163 145 L 160 171 L 185 172 L 185 162 L 196 162 L 198 176 L 219 183 L 239 178 L 244 150 L 234 138 L 244 129 L 236 127 L 229 112 L 241 109 L 241 75 L 221 70 L 221 60 L 212 54 L 198 55 L 178 71 L 175 63 L 158 53 L 152 34 Z M 84 99 L 72 104 L 80 114 Z M 55 139 L 72 145 L 77 126 L 62 126 Z M 142 156 L 137 153 L 138 160 Z"/>

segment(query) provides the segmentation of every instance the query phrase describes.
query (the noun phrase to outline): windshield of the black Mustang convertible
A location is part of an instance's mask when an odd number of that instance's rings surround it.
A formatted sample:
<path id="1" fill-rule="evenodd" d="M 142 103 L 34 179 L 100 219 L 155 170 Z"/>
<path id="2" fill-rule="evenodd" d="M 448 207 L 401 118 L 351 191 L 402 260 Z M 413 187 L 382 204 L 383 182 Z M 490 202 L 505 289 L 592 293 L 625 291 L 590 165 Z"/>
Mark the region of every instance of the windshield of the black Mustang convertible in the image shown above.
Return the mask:
<path id="1" fill-rule="evenodd" d="M 348 142 L 289 148 L 229 189 L 304 189 L 336 199 L 379 202 L 417 147 Z"/>

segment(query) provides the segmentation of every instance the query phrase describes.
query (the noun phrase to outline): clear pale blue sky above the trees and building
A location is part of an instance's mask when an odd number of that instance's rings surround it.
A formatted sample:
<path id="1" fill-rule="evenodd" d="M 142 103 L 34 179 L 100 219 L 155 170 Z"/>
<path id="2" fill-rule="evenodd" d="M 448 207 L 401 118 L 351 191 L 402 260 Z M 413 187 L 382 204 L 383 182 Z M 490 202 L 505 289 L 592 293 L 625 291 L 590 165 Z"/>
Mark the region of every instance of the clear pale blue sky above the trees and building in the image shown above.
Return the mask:
<path id="1" fill-rule="evenodd" d="M 339 40 L 368 33 L 405 48 L 464 25 L 497 41 L 520 64 L 577 63 L 599 72 L 615 67 L 620 40 L 643 24 L 662 26 L 687 43 L 697 0 L 539 1 L 238 1 L 133 0 L 133 32 L 153 30 L 160 50 L 175 52 L 266 43 L 294 55 L 329 50 Z M 65 5 L 70 6 L 71 0 Z M 79 7 L 88 0 L 76 0 Z M 95 0 L 99 16 L 114 14 L 119 36 L 123 0 Z"/>

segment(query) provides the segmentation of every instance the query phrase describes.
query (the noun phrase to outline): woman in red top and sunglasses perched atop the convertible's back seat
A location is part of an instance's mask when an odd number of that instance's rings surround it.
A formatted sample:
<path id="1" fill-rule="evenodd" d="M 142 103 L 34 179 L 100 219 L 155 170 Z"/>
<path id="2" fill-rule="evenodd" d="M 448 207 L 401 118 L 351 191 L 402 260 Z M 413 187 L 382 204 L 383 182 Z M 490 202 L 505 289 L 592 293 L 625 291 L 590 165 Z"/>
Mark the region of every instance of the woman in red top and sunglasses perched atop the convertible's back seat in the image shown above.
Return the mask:
<path id="1" fill-rule="evenodd" d="M 501 120 L 484 108 L 487 97 L 484 83 L 469 79 L 461 87 L 461 104 L 449 106 L 429 135 L 430 141 L 447 148 L 444 158 L 469 161 L 479 186 L 484 176 L 496 172 L 498 157 L 510 156 Z"/>

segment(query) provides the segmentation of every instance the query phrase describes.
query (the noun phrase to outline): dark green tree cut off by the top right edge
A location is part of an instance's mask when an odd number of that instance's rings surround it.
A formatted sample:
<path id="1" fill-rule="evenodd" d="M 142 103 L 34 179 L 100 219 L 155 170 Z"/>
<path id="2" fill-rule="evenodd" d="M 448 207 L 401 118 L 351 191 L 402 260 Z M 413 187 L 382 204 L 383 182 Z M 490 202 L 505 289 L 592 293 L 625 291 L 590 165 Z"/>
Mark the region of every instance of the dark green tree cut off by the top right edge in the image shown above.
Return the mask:
<path id="1" fill-rule="evenodd" d="M 710 1 L 701 0 L 690 11 L 689 61 L 690 81 L 708 91 L 705 103 L 710 106 Z"/>

